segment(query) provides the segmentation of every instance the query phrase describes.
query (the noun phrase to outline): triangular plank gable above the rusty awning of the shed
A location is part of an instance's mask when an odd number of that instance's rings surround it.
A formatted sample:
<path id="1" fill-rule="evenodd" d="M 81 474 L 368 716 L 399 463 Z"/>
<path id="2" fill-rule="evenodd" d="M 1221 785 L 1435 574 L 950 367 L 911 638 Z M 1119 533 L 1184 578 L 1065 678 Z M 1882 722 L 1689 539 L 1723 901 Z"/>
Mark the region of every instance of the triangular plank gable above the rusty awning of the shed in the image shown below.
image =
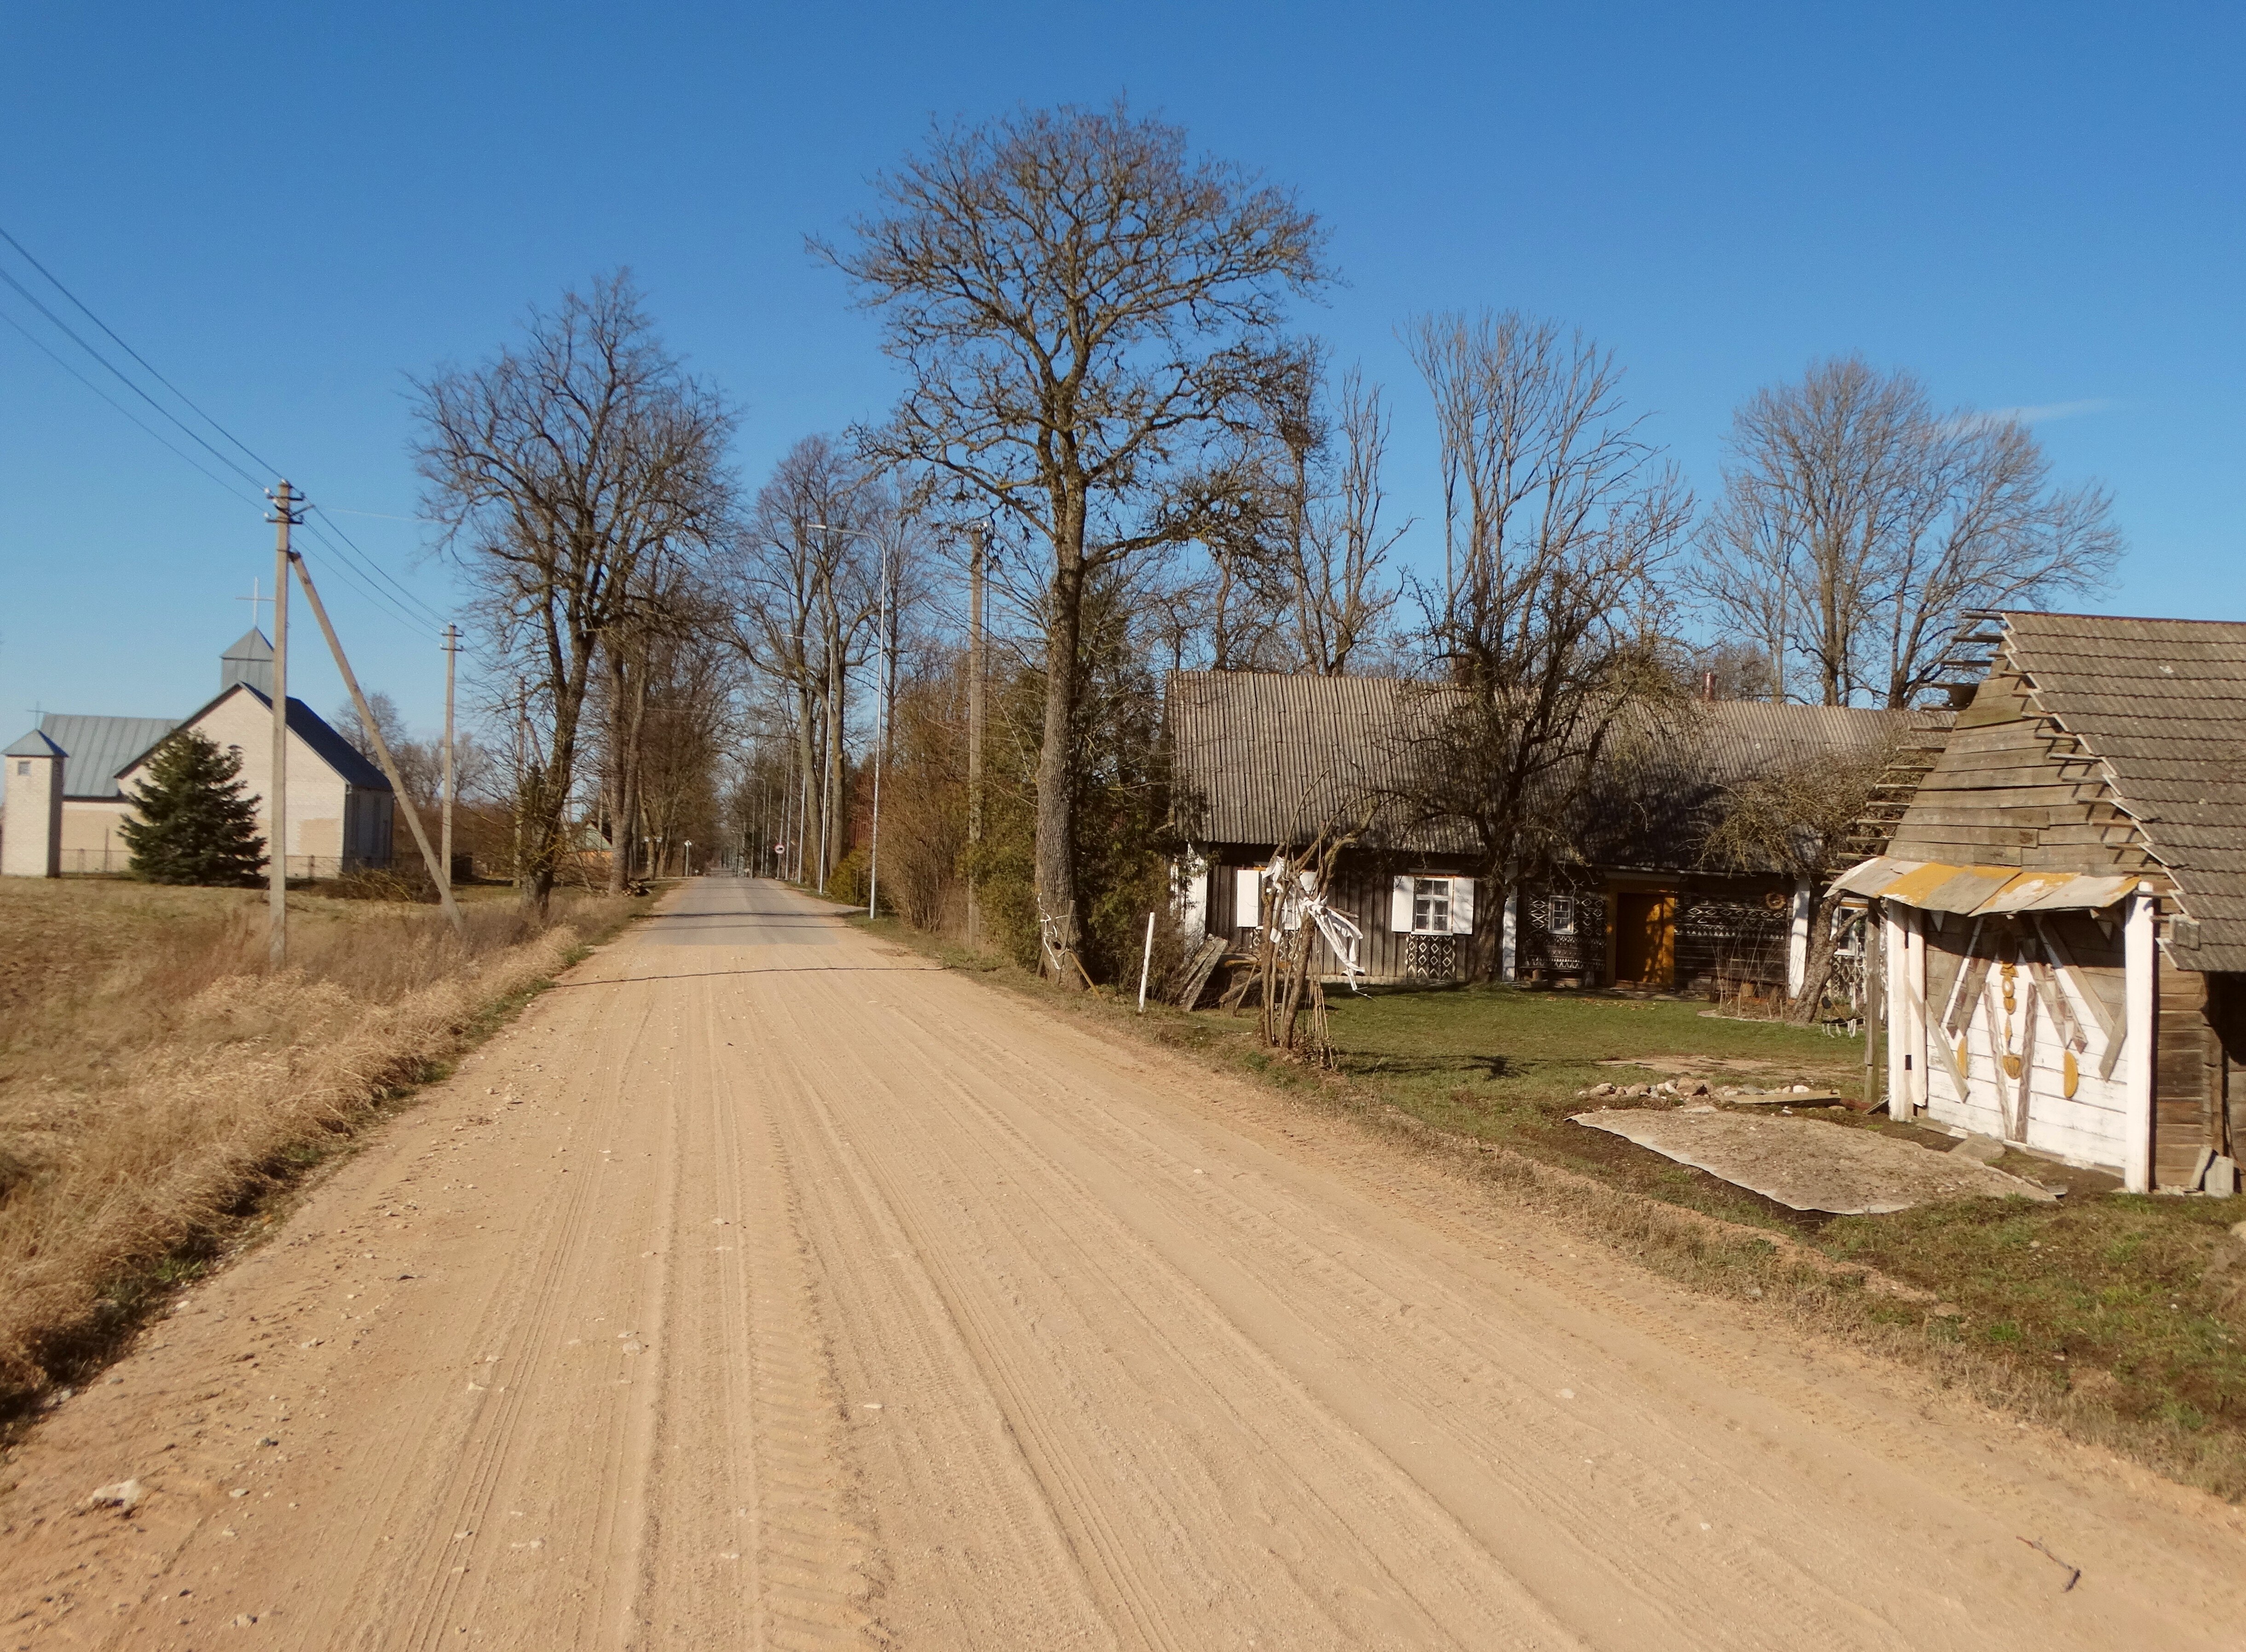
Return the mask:
<path id="1" fill-rule="evenodd" d="M 2145 842 L 2075 741 L 2035 712 L 2015 671 L 1992 671 L 1887 846 L 1900 860 L 2116 873 Z"/>

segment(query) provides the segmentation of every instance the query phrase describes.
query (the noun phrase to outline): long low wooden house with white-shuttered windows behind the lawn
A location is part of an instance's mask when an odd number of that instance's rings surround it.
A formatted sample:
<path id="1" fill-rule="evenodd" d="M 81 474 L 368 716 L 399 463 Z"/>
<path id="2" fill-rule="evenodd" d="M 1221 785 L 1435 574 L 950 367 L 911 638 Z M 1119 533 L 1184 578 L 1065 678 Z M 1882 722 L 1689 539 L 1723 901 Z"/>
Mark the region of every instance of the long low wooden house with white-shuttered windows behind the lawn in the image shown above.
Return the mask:
<path id="1" fill-rule="evenodd" d="M 1777 869 L 1702 864 L 1727 792 L 1898 732 L 1938 738 L 1947 714 L 1745 700 L 1680 707 L 1658 752 L 1599 779 L 1583 864 L 1491 909 L 1480 855 L 1455 822 L 1404 824 L 1366 799 L 1406 790 L 1399 729 L 1446 689 L 1397 678 L 1177 671 L 1168 680 L 1177 871 L 1188 929 L 1247 940 L 1264 869 L 1321 826 L 1363 817 L 1336 866 L 1332 905 L 1366 934 L 1372 981 L 1451 979 L 1462 947 L 1496 925 L 1503 979 L 1653 990 L 1783 992 L 1799 985 L 1813 889 Z"/>

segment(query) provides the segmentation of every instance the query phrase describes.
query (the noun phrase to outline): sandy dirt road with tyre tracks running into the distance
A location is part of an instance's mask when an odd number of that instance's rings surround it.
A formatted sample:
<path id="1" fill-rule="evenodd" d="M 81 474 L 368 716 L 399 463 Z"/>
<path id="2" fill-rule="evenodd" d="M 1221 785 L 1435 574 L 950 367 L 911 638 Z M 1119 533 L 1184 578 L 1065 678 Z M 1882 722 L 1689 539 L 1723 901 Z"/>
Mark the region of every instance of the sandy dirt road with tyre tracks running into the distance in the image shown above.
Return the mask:
<path id="1" fill-rule="evenodd" d="M 0 1648 L 2246 1639 L 2237 1511 L 827 914 L 694 884 L 63 1405 Z"/>

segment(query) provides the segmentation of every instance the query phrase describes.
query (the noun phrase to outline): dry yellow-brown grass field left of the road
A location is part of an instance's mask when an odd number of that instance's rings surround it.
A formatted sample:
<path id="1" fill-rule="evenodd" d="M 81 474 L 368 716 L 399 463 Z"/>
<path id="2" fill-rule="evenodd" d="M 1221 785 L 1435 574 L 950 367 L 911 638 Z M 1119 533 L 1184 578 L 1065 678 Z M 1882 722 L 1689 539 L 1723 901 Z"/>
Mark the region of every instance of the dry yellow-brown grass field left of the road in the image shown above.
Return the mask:
<path id="1" fill-rule="evenodd" d="M 624 916 L 292 896 L 267 974 L 263 896 L 0 884 L 0 1414 Z"/>

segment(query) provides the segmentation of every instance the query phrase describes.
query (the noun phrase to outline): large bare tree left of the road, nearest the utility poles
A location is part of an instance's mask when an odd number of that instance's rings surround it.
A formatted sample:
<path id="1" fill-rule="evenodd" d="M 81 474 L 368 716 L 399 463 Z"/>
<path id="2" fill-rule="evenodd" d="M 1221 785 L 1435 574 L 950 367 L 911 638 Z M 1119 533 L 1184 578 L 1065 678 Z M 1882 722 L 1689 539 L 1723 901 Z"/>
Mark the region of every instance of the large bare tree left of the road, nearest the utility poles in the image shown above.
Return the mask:
<path id="1" fill-rule="evenodd" d="M 422 510 L 501 655 L 519 660 L 526 714 L 546 718 L 517 781 L 517 887 L 544 911 L 568 853 L 593 660 L 651 559 L 723 534 L 732 417 L 656 339 L 624 272 L 532 312 L 521 343 L 483 366 L 413 388 Z"/>

